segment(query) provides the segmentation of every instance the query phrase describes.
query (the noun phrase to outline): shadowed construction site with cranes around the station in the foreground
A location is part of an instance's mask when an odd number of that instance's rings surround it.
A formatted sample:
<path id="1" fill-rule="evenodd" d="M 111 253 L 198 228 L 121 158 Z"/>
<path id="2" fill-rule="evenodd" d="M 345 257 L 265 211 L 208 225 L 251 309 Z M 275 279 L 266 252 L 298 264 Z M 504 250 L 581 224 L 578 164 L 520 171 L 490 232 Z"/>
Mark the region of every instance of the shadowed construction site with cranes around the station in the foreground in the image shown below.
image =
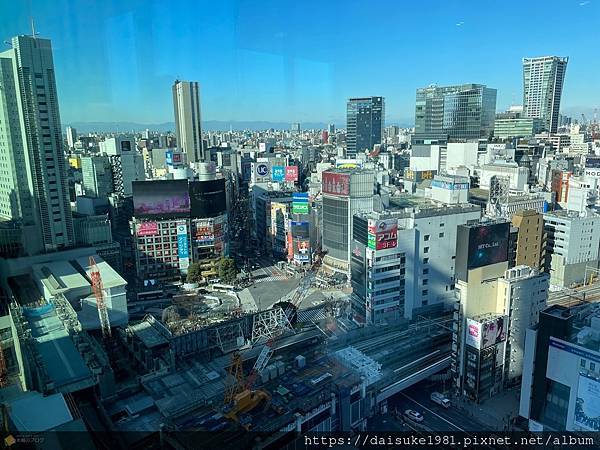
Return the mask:
<path id="1" fill-rule="evenodd" d="M 450 366 L 449 315 L 360 327 L 345 296 L 305 302 L 313 272 L 265 310 L 244 310 L 235 294 L 189 291 L 125 327 L 111 324 L 93 257 L 84 273 L 92 331 L 64 295 L 45 299 L 31 278 L 11 278 L 0 369 L 44 393 L 36 401 L 58 399 L 60 426 L 110 431 L 96 436 L 105 446 L 181 448 L 190 443 L 180 431 L 227 431 L 239 448 L 253 431 L 260 446 L 278 448 L 296 432 L 362 430 L 389 397 Z"/>

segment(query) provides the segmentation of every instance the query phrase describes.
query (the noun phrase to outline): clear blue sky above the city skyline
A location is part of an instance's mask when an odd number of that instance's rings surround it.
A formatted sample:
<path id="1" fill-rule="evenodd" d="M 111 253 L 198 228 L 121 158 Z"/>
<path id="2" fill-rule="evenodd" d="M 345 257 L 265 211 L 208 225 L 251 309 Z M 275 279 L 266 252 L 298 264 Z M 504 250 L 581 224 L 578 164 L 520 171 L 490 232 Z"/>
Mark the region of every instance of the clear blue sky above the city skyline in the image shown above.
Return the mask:
<path id="1" fill-rule="evenodd" d="M 175 78 L 201 83 L 204 120 L 344 120 L 383 95 L 387 121 L 415 90 L 484 83 L 521 103 L 521 58 L 569 56 L 563 111 L 600 107 L 600 0 L 20 0 L 2 40 L 53 42 L 62 120 L 173 120 Z"/>

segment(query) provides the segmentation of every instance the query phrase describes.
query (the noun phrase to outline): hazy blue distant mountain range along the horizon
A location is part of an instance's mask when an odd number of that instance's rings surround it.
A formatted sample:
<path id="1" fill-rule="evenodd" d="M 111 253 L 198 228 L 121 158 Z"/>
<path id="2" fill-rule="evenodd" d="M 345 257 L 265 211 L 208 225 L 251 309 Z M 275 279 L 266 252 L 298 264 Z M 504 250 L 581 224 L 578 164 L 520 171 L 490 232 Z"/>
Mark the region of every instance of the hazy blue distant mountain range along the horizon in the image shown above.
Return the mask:
<path id="1" fill-rule="evenodd" d="M 327 123 L 325 122 L 301 122 L 300 127 L 303 130 L 324 130 L 327 128 Z M 401 120 L 400 122 L 387 122 L 386 125 L 400 125 L 401 127 L 411 127 L 412 120 Z M 152 123 L 152 124 L 144 124 L 144 123 L 136 123 L 136 122 L 71 122 L 63 124 L 63 127 L 73 127 L 77 130 L 78 133 L 109 133 L 109 132 L 141 132 L 146 129 L 150 131 L 174 131 L 175 123 L 174 122 L 164 122 L 164 123 Z M 338 128 L 345 128 L 345 123 L 335 123 L 335 126 Z M 273 128 L 275 130 L 289 130 L 291 127 L 291 122 L 268 122 L 268 121 L 221 121 L 221 120 L 207 120 L 202 122 L 202 129 L 204 131 L 225 131 L 229 130 L 229 128 L 239 131 L 239 130 L 268 130 Z"/>

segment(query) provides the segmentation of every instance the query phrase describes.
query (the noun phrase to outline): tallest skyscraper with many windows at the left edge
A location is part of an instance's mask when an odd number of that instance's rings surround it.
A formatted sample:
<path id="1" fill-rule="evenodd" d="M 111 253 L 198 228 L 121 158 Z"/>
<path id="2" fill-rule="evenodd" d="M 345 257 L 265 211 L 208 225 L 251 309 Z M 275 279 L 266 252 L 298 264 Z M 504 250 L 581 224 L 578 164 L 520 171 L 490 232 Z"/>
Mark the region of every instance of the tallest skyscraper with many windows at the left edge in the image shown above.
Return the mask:
<path id="1" fill-rule="evenodd" d="M 0 53 L 0 217 L 32 226 L 37 250 L 55 251 L 74 234 L 52 46 L 17 36 L 11 47 Z"/>

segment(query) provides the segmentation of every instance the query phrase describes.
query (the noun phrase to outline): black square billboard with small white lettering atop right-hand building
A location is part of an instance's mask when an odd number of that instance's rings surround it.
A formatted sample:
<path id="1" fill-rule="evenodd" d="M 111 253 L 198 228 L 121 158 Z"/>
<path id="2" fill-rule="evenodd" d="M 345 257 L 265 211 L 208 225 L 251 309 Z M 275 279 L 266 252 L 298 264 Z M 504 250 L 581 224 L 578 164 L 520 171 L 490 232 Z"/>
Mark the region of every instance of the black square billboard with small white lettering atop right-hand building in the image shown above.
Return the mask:
<path id="1" fill-rule="evenodd" d="M 470 227 L 467 269 L 507 261 L 509 230 L 508 222 Z"/>

